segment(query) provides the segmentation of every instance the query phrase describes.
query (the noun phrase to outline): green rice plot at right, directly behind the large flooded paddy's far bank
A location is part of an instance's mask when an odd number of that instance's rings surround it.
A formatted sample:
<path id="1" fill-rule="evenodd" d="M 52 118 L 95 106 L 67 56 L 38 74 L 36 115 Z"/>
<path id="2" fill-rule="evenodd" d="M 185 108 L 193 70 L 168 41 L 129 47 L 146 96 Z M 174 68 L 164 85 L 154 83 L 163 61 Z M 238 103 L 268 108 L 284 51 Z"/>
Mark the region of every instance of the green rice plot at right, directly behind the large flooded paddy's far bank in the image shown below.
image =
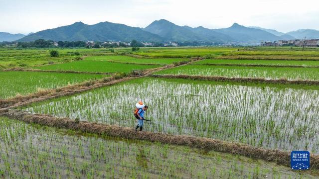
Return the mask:
<path id="1" fill-rule="evenodd" d="M 173 69 L 163 70 L 157 72 L 156 74 L 319 81 L 319 68 L 298 67 L 295 68 L 187 65 Z"/>

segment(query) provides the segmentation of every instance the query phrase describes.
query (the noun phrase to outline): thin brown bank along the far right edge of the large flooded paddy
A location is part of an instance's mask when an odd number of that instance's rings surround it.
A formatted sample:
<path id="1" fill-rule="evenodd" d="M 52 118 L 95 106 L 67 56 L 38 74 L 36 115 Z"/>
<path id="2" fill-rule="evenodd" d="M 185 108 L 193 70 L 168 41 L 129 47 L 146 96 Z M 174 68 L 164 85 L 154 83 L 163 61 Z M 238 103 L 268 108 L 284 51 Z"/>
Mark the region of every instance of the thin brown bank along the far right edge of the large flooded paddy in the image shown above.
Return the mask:
<path id="1" fill-rule="evenodd" d="M 150 75 L 154 78 L 165 79 L 186 79 L 186 80 L 203 80 L 203 81 L 216 81 L 216 82 L 254 82 L 254 83 L 266 83 L 266 84 L 287 84 L 287 85 L 319 85 L 319 81 L 309 80 L 267 80 L 263 78 L 229 78 L 219 76 L 191 76 L 191 75 Z"/>

